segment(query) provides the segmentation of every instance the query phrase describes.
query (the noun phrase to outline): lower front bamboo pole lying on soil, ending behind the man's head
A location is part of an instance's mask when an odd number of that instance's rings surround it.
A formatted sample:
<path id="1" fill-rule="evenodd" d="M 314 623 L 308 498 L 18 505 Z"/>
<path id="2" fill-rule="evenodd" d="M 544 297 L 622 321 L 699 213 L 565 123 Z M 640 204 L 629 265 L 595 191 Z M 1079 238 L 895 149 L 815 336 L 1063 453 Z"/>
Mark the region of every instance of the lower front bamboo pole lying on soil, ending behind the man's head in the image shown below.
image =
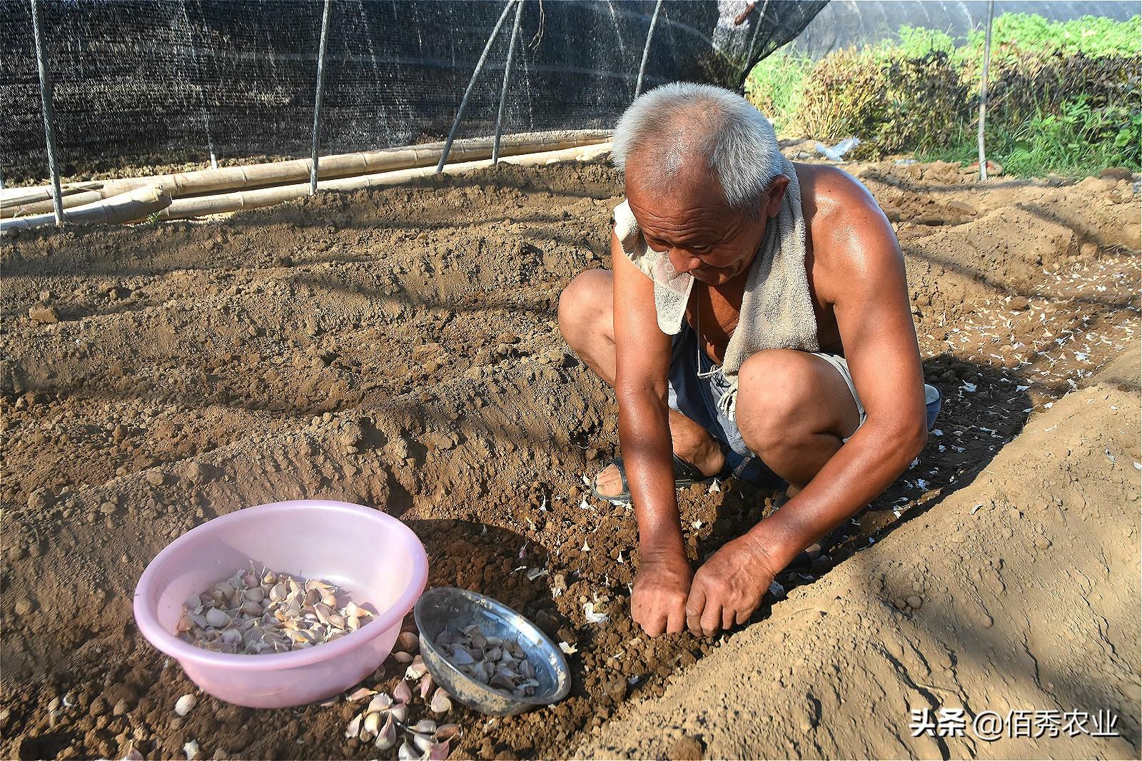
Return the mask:
<path id="1" fill-rule="evenodd" d="M 515 163 L 520 166 L 541 166 L 556 163 L 560 161 L 589 161 L 611 150 L 610 143 L 597 143 L 558 151 L 541 151 L 539 153 L 528 153 L 523 155 L 500 158 L 501 163 Z M 474 169 L 483 169 L 492 166 L 491 159 L 480 161 L 466 161 L 450 163 L 444 167 L 448 175 L 464 174 Z M 397 185 L 417 179 L 431 177 L 436 174 L 432 166 L 415 167 L 411 169 L 399 169 L 395 171 L 383 171 L 359 177 L 341 177 L 339 179 L 324 179 L 319 183 L 320 190 L 330 191 L 353 191 L 363 187 L 381 187 Z M 170 207 L 159 213 L 159 219 L 185 219 L 187 217 L 201 217 L 209 214 L 225 214 L 242 209 L 256 209 L 266 206 L 274 206 L 284 201 L 292 201 L 309 194 L 308 183 L 295 183 L 291 185 L 280 185 L 278 187 L 263 187 L 259 190 L 240 191 L 234 193 L 222 193 L 217 195 L 201 195 L 198 198 L 175 199 Z"/>

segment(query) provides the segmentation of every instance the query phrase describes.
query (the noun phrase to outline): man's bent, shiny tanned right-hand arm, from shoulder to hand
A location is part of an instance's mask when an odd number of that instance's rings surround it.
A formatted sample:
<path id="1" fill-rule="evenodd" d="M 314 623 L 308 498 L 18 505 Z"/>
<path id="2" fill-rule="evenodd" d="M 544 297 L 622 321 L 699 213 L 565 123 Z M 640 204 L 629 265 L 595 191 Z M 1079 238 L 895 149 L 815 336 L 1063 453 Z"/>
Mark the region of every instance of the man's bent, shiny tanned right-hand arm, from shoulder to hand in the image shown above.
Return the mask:
<path id="1" fill-rule="evenodd" d="M 828 256 L 827 281 L 839 283 L 828 301 L 868 417 L 785 507 L 727 543 L 694 575 L 687 615 L 698 624 L 692 627 L 707 633 L 743 624 L 773 576 L 884 491 L 926 441 L 924 377 L 903 257 L 868 191 L 843 177 L 828 182 L 829 203 L 843 210 L 843 223 L 823 240 L 814 235 L 814 247 L 818 256 Z"/>

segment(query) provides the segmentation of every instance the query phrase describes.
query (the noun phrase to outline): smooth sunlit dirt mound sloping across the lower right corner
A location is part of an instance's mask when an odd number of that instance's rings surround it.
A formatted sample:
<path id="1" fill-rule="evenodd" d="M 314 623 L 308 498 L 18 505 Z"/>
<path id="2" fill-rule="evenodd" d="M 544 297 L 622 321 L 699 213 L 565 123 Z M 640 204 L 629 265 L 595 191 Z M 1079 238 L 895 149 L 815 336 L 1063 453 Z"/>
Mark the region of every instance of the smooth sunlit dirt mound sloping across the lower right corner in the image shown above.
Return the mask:
<path id="1" fill-rule="evenodd" d="M 1136 380 L 1137 346 L 1123 359 Z M 1137 758 L 1139 393 L 1099 379 L 572 755 Z M 963 711 L 966 732 L 914 736 L 914 710 Z M 988 711 L 1030 712 L 1026 731 L 983 739 Z M 1104 711 L 1118 736 L 1092 736 Z"/>

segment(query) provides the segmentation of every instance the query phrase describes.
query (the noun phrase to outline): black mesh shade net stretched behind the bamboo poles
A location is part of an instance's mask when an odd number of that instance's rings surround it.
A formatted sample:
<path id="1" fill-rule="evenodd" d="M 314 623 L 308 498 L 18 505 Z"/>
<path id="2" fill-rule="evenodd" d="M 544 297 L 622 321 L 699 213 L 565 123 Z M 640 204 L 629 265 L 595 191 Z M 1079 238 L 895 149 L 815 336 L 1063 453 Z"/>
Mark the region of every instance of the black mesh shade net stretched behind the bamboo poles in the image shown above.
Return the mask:
<path id="1" fill-rule="evenodd" d="M 504 131 L 610 128 L 630 103 L 654 0 L 523 0 Z M 667 0 L 643 89 L 740 89 L 821 1 Z M 41 0 L 64 175 L 311 150 L 319 0 Z M 323 154 L 443 138 L 502 2 L 335 0 Z M 514 8 L 459 136 L 494 131 Z M 0 171 L 47 174 L 30 0 L 0 0 Z"/>

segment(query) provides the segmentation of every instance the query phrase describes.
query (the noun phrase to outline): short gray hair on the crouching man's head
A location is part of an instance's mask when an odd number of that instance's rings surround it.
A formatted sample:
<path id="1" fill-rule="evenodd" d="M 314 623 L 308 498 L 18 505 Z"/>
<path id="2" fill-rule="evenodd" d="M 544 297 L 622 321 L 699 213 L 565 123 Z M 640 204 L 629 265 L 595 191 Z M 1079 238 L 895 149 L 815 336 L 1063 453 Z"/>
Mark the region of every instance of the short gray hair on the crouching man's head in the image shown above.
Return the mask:
<path id="1" fill-rule="evenodd" d="M 670 82 L 632 103 L 611 138 L 611 161 L 626 171 L 638 155 L 638 177 L 665 190 L 687 155 L 714 170 L 732 209 L 757 211 L 765 187 L 781 174 L 773 125 L 749 101 L 711 85 Z"/>

